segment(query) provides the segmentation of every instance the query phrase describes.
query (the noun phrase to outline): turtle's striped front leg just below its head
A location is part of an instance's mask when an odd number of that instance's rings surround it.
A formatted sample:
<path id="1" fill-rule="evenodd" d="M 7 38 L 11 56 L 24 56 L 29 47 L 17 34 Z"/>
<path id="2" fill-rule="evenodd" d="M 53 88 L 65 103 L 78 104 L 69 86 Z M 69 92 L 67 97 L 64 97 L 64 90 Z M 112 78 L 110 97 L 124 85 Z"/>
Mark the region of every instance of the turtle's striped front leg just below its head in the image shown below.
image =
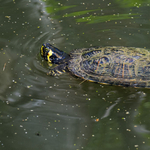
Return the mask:
<path id="1" fill-rule="evenodd" d="M 47 73 L 47 75 L 59 76 L 66 71 L 67 71 L 66 64 L 60 64 L 60 65 L 56 66 L 55 68 L 50 69 L 50 71 Z"/>

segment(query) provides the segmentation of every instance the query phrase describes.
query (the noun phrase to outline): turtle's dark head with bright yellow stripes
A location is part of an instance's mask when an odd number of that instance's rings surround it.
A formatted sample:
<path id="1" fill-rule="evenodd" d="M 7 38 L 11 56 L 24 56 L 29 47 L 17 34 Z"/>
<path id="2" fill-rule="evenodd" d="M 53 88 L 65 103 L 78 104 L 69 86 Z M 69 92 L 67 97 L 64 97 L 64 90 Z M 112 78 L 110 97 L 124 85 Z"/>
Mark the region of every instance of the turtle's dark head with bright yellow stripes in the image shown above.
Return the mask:
<path id="1" fill-rule="evenodd" d="M 66 53 L 49 43 L 42 44 L 40 54 L 44 60 L 54 64 L 61 63 L 67 56 Z"/>

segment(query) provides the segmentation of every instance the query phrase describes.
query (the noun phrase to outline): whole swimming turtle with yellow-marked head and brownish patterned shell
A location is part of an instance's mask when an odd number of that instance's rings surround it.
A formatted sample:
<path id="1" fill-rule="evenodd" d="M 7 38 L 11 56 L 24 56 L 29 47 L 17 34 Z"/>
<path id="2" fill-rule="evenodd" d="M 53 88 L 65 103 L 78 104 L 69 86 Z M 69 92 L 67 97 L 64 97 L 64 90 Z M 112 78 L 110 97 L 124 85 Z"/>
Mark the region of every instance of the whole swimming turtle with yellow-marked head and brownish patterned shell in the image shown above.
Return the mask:
<path id="1" fill-rule="evenodd" d="M 46 43 L 42 58 L 56 66 L 49 75 L 63 72 L 101 84 L 150 88 L 150 51 L 146 48 L 104 46 L 75 49 L 70 54 Z"/>

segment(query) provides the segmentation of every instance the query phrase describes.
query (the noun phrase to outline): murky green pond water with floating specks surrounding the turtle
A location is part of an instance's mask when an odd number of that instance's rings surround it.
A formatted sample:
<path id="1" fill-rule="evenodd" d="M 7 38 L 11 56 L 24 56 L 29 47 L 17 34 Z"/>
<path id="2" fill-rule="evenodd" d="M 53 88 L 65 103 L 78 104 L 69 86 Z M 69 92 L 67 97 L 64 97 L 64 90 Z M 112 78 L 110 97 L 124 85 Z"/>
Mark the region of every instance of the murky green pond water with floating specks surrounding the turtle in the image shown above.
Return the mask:
<path id="1" fill-rule="evenodd" d="M 0 149 L 149 150 L 150 90 L 47 76 L 49 42 L 150 48 L 150 1 L 0 1 Z"/>

